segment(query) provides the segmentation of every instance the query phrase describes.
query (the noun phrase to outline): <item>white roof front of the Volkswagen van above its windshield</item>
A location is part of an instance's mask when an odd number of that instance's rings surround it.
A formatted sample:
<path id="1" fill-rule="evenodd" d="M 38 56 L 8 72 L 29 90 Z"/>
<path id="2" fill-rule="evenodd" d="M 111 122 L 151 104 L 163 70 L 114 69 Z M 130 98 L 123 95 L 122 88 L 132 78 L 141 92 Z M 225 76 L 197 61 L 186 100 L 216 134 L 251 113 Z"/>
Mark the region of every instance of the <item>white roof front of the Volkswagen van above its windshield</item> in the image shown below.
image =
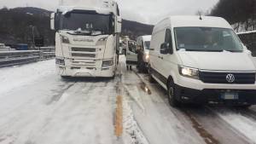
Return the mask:
<path id="1" fill-rule="evenodd" d="M 172 27 L 219 27 L 219 28 L 229 28 L 232 29 L 232 26 L 221 17 L 215 16 L 169 16 L 164 20 L 161 20 L 159 23 L 154 26 L 154 32 L 166 26 Z"/>

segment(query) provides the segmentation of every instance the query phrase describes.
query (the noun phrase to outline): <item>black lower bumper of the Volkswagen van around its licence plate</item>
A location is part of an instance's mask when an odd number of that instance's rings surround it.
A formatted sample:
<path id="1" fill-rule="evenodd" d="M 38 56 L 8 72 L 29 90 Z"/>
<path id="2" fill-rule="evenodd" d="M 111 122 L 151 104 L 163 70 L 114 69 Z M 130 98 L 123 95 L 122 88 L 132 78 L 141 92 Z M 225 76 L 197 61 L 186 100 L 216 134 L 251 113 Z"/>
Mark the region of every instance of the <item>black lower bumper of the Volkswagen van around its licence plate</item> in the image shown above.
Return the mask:
<path id="1" fill-rule="evenodd" d="M 230 105 L 255 105 L 255 89 L 190 89 L 176 85 L 177 100 L 183 103 L 224 103 Z M 226 99 L 224 94 L 236 94 L 234 99 Z"/>

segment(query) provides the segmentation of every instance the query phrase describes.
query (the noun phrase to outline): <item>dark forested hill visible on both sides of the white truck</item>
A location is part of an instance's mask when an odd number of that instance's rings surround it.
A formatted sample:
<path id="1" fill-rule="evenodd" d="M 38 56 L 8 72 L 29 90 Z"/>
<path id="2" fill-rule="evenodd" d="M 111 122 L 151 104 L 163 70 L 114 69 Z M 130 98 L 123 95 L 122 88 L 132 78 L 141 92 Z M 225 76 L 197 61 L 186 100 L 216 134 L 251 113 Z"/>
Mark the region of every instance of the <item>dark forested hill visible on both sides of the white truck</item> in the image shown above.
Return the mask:
<path id="1" fill-rule="evenodd" d="M 0 43 L 32 44 L 32 33 L 35 37 L 44 37 L 45 45 L 52 45 L 55 32 L 49 28 L 50 11 L 38 8 L 0 9 Z M 136 38 L 151 34 L 153 26 L 135 21 L 123 20 L 122 35 Z"/>

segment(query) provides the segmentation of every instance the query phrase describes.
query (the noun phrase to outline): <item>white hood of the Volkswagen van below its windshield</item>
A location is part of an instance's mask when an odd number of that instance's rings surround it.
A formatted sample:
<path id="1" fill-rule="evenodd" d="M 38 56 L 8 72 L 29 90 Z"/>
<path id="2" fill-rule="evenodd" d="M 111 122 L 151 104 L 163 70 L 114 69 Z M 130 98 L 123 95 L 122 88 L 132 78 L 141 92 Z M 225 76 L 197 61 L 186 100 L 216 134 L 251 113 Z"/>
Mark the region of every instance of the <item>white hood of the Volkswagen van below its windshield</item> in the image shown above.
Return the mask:
<path id="1" fill-rule="evenodd" d="M 218 71 L 255 71 L 253 60 L 246 53 L 177 52 L 182 66 Z"/>

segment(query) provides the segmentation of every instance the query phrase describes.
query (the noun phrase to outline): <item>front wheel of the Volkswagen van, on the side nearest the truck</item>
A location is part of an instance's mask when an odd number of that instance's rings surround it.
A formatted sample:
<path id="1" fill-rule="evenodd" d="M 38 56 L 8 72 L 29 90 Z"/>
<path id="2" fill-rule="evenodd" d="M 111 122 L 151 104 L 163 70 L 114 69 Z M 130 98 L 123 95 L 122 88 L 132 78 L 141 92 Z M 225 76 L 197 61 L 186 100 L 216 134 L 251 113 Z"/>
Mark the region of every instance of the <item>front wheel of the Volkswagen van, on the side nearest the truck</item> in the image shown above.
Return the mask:
<path id="1" fill-rule="evenodd" d="M 180 102 L 177 101 L 177 93 L 175 89 L 175 84 L 173 82 L 169 82 L 167 89 L 168 101 L 172 107 L 180 107 Z"/>

